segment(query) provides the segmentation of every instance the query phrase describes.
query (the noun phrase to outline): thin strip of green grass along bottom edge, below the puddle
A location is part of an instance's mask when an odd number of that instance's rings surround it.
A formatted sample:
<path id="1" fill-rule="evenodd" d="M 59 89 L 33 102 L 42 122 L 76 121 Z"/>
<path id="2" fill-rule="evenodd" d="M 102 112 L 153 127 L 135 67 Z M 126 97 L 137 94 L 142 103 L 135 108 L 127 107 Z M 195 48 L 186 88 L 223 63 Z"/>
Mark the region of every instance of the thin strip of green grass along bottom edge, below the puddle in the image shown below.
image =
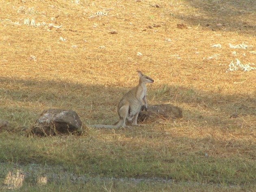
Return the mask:
<path id="1" fill-rule="evenodd" d="M 12 190 L 13 192 L 180 192 L 180 191 L 207 191 L 207 192 L 240 192 L 240 191 L 254 191 L 254 186 L 232 187 L 232 186 L 216 186 L 196 183 L 163 183 L 163 182 L 124 182 L 124 181 L 88 181 L 85 183 L 49 183 L 47 185 L 36 186 L 25 184 L 22 188 Z M 1 191 L 1 190 L 0 190 Z"/>

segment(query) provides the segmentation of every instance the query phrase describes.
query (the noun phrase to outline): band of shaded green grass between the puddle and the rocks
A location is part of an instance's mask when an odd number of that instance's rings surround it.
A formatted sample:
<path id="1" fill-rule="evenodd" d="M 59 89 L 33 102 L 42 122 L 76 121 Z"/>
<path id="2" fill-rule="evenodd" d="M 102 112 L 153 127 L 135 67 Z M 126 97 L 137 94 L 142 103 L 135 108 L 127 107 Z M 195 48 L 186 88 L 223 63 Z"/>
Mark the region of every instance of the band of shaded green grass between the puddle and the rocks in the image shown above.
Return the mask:
<path id="1" fill-rule="evenodd" d="M 172 153 L 163 153 L 161 147 L 150 147 L 147 143 L 131 147 L 135 145 L 133 141 L 129 145 L 119 142 L 115 136 L 101 140 L 93 134 L 96 133 L 37 138 L 1 133 L 0 162 L 58 165 L 72 173 L 92 177 L 159 177 L 231 185 L 255 183 L 255 162 L 246 157 L 206 157 L 197 151 L 179 154 L 175 146 L 168 147 Z"/>

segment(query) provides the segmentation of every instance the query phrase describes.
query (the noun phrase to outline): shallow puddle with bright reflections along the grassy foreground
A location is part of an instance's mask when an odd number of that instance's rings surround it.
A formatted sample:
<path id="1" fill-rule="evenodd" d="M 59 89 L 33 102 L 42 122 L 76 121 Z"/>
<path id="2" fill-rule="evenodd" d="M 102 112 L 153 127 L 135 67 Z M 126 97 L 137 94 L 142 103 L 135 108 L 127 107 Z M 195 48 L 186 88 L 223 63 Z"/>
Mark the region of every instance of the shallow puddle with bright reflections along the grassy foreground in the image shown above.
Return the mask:
<path id="1" fill-rule="evenodd" d="M 175 182 L 172 179 L 161 178 L 105 178 L 105 177 L 89 177 L 88 175 L 76 175 L 70 173 L 64 167 L 61 166 L 48 166 L 39 164 L 11 164 L 0 163 L 0 186 L 6 189 L 20 188 L 24 183 L 31 184 L 47 184 L 54 182 L 56 184 L 70 183 L 70 184 L 83 184 L 89 181 L 93 182 L 121 182 L 123 184 L 137 184 L 137 183 L 165 183 L 173 184 Z M 213 184 L 187 182 L 191 186 L 207 186 Z M 220 184 L 214 184 L 215 187 L 220 187 Z M 228 188 L 236 188 L 239 186 L 228 186 Z"/>

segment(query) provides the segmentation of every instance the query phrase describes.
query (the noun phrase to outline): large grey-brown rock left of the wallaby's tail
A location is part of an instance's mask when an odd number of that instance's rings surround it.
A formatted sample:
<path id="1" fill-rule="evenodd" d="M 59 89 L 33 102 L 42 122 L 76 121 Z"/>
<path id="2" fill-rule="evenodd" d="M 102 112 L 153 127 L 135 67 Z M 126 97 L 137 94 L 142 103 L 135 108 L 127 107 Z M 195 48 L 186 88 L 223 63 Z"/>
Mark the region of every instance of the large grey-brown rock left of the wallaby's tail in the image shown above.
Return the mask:
<path id="1" fill-rule="evenodd" d="M 40 136 L 53 136 L 81 131 L 82 121 L 74 110 L 48 109 L 43 111 L 31 132 Z"/>

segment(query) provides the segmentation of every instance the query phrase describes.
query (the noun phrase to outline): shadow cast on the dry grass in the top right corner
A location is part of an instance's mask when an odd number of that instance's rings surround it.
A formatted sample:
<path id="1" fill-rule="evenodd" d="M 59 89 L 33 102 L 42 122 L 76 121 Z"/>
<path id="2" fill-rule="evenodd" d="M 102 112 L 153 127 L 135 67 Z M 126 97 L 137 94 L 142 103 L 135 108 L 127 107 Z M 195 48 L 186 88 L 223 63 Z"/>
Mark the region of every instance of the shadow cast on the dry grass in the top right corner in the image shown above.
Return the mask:
<path id="1" fill-rule="evenodd" d="M 256 34 L 255 10 L 253 0 L 186 0 L 195 8 L 194 13 L 178 13 L 174 17 L 189 25 L 200 26 L 216 31 L 233 31 Z"/>

